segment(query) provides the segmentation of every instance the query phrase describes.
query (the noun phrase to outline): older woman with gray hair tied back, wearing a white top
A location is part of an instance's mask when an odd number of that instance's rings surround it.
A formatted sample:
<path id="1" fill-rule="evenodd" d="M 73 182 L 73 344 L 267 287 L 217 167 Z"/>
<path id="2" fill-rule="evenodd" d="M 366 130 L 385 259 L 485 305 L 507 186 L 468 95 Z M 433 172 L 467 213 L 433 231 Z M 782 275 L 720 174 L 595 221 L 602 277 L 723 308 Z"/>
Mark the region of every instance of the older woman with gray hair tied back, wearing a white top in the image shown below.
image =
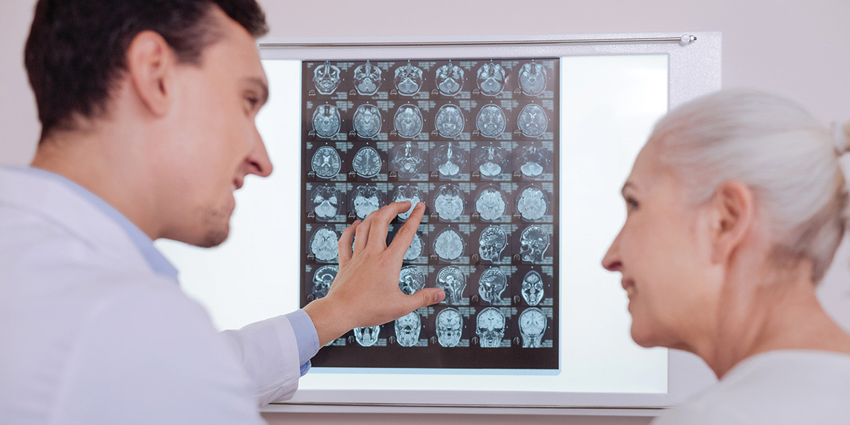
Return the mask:
<path id="1" fill-rule="evenodd" d="M 656 125 L 603 265 L 622 275 L 636 343 L 720 378 L 656 424 L 850 423 L 850 336 L 815 297 L 847 223 L 847 129 L 749 91 Z"/>

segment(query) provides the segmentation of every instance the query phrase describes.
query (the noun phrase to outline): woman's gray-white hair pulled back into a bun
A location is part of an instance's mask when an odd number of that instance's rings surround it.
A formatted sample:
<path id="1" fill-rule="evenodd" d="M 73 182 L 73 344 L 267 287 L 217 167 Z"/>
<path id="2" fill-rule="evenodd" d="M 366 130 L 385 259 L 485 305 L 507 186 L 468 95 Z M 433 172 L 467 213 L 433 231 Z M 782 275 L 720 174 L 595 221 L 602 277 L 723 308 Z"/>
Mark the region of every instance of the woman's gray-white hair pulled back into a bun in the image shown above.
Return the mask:
<path id="1" fill-rule="evenodd" d="M 847 127 L 845 127 L 847 128 Z M 847 187 L 832 131 L 795 102 L 721 91 L 670 111 L 650 140 L 701 203 L 725 181 L 747 184 L 768 217 L 779 263 L 807 258 L 823 279 L 847 222 Z M 846 149 L 846 148 L 844 148 Z"/>

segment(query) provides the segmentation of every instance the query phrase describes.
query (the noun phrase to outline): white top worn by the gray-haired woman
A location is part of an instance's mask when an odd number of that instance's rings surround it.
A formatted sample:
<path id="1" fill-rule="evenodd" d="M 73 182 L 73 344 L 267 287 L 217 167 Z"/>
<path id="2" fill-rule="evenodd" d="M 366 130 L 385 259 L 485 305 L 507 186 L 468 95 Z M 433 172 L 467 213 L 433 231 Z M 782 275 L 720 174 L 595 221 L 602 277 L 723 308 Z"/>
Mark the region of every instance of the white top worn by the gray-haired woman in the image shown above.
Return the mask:
<path id="1" fill-rule="evenodd" d="M 652 423 L 850 424 L 850 354 L 781 350 L 754 355 Z"/>

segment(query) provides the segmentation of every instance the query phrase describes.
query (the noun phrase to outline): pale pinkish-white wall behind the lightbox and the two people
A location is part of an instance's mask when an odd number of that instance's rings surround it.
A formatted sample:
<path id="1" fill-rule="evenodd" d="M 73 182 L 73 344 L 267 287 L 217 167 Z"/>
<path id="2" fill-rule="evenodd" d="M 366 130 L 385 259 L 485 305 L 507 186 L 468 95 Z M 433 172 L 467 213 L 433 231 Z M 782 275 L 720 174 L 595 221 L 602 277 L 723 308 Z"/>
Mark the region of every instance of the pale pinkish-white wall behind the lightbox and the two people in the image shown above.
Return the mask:
<path id="1" fill-rule="evenodd" d="M 850 119 L 847 0 L 430 0 L 285 2 L 260 0 L 271 37 L 723 31 L 723 86 L 764 88 L 806 105 L 824 122 Z M 22 65 L 32 0 L 3 0 L 0 14 L 0 164 L 25 163 L 35 149 L 37 114 Z M 846 164 L 850 167 L 850 164 Z M 850 246 L 845 243 L 820 296 L 850 329 Z M 272 423 L 643 424 L 646 418 L 558 416 L 267 414 Z M 436 420 L 436 421 L 434 421 Z"/>

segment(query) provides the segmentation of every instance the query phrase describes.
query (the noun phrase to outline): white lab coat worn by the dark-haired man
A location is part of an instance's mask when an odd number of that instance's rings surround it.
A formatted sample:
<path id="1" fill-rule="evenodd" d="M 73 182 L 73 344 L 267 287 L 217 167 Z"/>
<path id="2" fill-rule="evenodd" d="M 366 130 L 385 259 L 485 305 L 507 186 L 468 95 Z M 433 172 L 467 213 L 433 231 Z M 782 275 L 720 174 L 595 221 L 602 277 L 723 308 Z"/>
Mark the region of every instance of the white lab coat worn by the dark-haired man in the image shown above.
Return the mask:
<path id="1" fill-rule="evenodd" d="M 216 332 L 97 207 L 0 168 L 0 422 L 262 423 L 299 376 L 285 317 Z"/>

